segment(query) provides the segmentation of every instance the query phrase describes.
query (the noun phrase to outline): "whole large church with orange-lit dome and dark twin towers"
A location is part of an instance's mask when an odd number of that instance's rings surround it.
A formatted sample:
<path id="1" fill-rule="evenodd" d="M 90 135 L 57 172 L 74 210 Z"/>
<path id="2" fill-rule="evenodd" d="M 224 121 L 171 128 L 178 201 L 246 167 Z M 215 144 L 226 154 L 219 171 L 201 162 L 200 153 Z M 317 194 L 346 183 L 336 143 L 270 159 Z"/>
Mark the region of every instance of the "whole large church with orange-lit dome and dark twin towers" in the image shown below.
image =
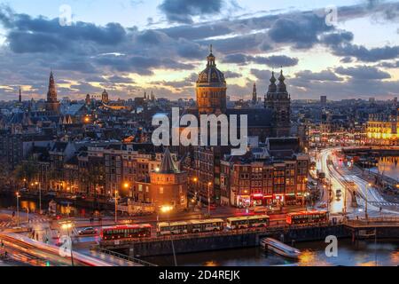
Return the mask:
<path id="1" fill-rule="evenodd" d="M 278 79 L 272 73 L 264 108 L 227 108 L 226 79 L 216 67 L 211 45 L 207 67 L 200 73 L 196 84 L 197 109 L 194 114 L 247 114 L 249 136 L 258 136 L 261 141 L 273 137 L 290 137 L 291 96 L 286 90 L 285 81 L 283 70 Z"/>

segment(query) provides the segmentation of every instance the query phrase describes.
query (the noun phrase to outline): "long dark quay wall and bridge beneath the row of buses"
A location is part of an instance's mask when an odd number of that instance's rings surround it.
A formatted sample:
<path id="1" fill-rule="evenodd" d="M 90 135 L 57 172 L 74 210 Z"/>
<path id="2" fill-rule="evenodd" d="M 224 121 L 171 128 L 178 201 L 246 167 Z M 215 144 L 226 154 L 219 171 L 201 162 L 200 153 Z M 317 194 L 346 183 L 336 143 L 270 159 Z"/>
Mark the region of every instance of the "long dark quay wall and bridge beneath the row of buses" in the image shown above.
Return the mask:
<path id="1" fill-rule="evenodd" d="M 375 229 L 377 228 L 377 230 Z M 329 235 L 337 238 L 363 239 L 363 231 L 372 229 L 379 239 L 399 236 L 399 218 L 379 218 L 345 221 L 338 225 L 285 225 L 250 230 L 196 233 L 162 236 L 137 240 L 101 241 L 99 247 L 127 256 L 167 256 L 230 248 L 251 248 L 265 237 L 291 241 L 325 241 Z"/>

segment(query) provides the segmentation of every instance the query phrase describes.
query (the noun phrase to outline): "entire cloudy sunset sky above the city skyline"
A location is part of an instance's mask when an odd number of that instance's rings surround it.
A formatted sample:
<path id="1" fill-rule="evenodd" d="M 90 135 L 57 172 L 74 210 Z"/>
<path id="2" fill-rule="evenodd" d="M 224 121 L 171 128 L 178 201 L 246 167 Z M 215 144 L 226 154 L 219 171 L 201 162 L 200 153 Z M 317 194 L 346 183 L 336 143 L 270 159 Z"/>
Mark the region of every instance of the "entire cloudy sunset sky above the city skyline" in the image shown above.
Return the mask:
<path id="1" fill-rule="evenodd" d="M 0 100 L 45 98 L 51 69 L 59 99 L 194 98 L 210 44 L 232 99 L 280 66 L 293 99 L 392 99 L 398 33 L 398 1 L 0 0 Z"/>

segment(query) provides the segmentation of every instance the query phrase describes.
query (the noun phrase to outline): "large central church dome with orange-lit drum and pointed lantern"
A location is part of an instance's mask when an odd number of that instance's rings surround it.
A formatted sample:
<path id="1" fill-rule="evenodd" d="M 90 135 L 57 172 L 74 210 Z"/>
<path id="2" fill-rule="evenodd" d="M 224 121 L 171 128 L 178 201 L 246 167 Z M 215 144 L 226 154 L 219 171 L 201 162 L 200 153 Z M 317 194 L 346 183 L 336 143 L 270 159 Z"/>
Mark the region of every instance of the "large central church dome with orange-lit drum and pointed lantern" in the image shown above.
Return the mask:
<path id="1" fill-rule="evenodd" d="M 225 113 L 227 107 L 227 85 L 224 75 L 216 68 L 215 55 L 207 56 L 207 67 L 197 80 L 196 94 L 199 114 Z"/>

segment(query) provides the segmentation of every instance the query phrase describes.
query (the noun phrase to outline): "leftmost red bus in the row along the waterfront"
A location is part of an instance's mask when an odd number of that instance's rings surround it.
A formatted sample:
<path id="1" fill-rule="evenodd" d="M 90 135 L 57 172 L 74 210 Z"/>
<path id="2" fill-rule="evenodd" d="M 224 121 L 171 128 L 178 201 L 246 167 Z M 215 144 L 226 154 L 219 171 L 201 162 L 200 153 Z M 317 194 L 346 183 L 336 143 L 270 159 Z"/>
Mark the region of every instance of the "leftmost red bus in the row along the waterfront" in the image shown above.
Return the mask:
<path id="1" fill-rule="evenodd" d="M 115 225 L 103 227 L 101 229 L 101 240 L 123 240 L 151 237 L 151 228 L 149 224 L 144 225 Z"/>

